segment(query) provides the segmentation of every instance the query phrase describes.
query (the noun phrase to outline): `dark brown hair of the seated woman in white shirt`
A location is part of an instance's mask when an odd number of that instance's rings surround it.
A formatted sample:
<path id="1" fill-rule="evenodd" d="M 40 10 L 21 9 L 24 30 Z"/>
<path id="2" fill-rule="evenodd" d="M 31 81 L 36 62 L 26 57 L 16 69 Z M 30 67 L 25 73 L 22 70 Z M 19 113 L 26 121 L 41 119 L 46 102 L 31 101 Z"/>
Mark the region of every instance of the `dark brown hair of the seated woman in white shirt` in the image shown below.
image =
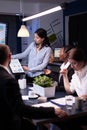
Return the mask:
<path id="1" fill-rule="evenodd" d="M 69 52 L 69 59 L 73 59 L 77 62 L 81 62 L 81 61 L 86 62 L 87 61 L 86 55 L 81 48 L 71 49 L 70 52 Z"/>

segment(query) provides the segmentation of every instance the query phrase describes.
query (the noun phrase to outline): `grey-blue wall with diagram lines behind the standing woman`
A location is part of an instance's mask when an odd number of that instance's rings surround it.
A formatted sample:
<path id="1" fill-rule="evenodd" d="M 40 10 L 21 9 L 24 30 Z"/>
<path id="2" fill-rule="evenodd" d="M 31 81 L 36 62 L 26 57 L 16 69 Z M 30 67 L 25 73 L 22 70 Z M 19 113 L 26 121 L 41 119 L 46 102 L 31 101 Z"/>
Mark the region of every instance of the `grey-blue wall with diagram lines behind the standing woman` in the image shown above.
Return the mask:
<path id="1" fill-rule="evenodd" d="M 63 46 L 63 11 L 28 21 L 27 25 L 30 37 L 22 38 L 22 51 L 33 41 L 34 32 L 39 27 L 47 30 L 52 49 Z M 27 57 L 22 60 L 22 64 L 27 64 Z"/>

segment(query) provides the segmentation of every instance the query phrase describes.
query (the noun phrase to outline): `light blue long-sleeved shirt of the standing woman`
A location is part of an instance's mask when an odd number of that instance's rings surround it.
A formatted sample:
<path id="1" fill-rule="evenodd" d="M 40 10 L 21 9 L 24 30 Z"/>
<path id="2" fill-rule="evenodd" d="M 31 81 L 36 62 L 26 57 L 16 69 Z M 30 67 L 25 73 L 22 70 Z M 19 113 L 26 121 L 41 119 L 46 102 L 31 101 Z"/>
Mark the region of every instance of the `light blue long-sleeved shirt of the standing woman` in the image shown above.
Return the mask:
<path id="1" fill-rule="evenodd" d="M 22 59 L 28 56 L 29 71 L 26 71 L 26 74 L 35 77 L 44 73 L 43 70 L 49 62 L 51 53 L 51 48 L 46 46 L 37 52 L 36 44 L 32 42 L 24 52 L 12 55 L 12 58 Z"/>

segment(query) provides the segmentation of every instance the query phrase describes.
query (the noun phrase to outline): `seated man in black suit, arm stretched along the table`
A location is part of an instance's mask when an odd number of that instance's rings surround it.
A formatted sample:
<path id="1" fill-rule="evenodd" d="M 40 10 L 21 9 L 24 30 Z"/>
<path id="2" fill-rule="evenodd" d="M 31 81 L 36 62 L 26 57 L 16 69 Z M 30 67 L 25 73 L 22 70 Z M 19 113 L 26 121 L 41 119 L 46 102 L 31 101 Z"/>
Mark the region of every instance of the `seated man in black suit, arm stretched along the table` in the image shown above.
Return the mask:
<path id="1" fill-rule="evenodd" d="M 10 48 L 0 44 L 0 130 L 36 130 L 33 124 L 25 123 L 23 119 L 67 116 L 60 108 L 37 108 L 24 104 L 18 82 L 8 69 L 10 61 Z"/>

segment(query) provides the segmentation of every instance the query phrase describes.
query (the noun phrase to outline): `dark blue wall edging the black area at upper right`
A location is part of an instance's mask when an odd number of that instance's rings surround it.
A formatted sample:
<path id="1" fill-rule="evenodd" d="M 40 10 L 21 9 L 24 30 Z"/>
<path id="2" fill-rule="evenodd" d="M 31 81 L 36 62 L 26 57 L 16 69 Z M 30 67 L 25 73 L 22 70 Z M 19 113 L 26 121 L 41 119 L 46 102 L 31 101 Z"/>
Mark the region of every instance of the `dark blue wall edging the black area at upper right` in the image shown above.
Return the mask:
<path id="1" fill-rule="evenodd" d="M 87 0 L 78 0 L 68 5 L 67 9 L 64 10 L 63 26 L 64 26 L 64 44 L 69 44 L 69 17 L 80 15 L 87 12 Z"/>

